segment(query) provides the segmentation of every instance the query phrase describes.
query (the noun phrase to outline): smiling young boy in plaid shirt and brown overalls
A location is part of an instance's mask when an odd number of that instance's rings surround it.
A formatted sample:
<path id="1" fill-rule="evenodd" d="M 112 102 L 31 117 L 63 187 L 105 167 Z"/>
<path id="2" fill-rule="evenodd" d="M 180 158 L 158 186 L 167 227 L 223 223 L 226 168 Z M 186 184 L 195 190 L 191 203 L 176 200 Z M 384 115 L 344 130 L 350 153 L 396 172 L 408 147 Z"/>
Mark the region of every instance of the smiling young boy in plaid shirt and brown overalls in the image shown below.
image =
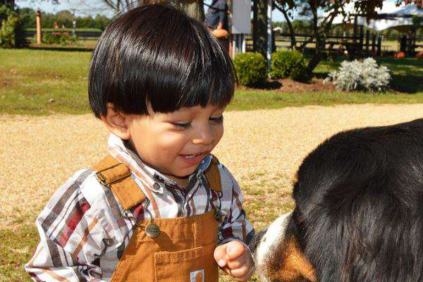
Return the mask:
<path id="1" fill-rule="evenodd" d="M 37 218 L 34 281 L 240 281 L 254 231 L 231 173 L 210 152 L 234 92 L 228 54 L 204 25 L 148 5 L 106 28 L 90 105 L 109 156 L 75 173 Z"/>

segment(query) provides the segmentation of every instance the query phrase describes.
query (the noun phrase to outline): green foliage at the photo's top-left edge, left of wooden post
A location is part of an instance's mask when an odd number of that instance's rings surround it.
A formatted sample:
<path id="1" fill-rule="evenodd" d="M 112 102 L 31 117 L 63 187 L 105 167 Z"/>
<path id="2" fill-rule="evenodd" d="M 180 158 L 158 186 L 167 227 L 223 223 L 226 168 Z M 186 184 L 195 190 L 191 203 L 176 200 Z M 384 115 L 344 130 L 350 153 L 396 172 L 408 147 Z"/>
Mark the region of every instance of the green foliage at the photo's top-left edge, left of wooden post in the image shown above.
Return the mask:
<path id="1" fill-rule="evenodd" d="M 15 47 L 16 45 L 16 29 L 20 25 L 18 13 L 12 11 L 6 4 L 0 4 L 0 47 Z"/>

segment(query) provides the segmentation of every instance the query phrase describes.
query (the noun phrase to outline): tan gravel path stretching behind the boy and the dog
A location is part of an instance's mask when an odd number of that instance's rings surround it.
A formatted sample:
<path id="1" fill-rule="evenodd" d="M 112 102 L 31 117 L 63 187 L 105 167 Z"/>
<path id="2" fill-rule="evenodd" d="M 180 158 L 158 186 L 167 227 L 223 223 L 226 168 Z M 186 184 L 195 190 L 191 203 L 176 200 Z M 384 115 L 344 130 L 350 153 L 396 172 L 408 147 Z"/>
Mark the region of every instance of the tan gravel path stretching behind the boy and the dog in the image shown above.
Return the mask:
<path id="1" fill-rule="evenodd" d="M 422 104 L 228 112 L 225 135 L 214 154 L 241 184 L 278 178 L 278 188 L 289 192 L 300 161 L 327 137 L 420 117 Z M 0 130 L 0 229 L 32 222 L 61 183 L 105 154 L 106 129 L 92 115 L 0 115 Z M 245 193 L 249 201 L 255 199 L 252 192 Z"/>

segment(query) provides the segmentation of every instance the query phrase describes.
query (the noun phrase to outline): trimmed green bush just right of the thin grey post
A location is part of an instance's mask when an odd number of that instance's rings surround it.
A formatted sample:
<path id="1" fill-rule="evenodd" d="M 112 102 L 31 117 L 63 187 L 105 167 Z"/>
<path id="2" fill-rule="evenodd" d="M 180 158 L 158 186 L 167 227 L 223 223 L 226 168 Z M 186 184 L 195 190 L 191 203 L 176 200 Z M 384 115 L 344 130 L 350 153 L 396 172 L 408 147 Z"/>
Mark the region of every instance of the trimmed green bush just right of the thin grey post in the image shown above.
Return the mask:
<path id="1" fill-rule="evenodd" d="M 307 63 L 299 51 L 278 50 L 271 55 L 271 78 L 308 81 Z"/>

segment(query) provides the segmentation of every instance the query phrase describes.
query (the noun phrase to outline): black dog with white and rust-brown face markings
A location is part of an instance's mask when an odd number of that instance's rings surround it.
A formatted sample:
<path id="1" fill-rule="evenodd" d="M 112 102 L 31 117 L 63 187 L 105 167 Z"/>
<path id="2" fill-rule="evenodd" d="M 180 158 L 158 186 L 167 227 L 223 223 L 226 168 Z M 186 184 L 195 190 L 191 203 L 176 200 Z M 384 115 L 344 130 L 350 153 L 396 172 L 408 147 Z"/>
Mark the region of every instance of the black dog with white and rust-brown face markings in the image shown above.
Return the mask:
<path id="1" fill-rule="evenodd" d="M 333 135 L 293 186 L 250 245 L 262 281 L 423 281 L 423 119 Z"/>

